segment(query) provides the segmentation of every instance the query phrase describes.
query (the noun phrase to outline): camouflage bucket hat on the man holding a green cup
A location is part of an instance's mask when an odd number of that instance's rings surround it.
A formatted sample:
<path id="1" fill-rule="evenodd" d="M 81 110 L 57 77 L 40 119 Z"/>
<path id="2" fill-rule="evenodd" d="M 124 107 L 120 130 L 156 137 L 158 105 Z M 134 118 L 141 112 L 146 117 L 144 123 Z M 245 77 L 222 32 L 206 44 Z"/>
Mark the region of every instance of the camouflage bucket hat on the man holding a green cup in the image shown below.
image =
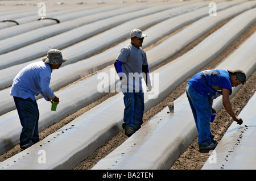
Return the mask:
<path id="1" fill-rule="evenodd" d="M 60 50 L 57 49 L 50 49 L 47 52 L 47 57 L 42 58 L 43 62 L 48 64 L 63 64 L 65 61 L 67 61 L 67 58 L 62 57 L 62 53 Z"/>

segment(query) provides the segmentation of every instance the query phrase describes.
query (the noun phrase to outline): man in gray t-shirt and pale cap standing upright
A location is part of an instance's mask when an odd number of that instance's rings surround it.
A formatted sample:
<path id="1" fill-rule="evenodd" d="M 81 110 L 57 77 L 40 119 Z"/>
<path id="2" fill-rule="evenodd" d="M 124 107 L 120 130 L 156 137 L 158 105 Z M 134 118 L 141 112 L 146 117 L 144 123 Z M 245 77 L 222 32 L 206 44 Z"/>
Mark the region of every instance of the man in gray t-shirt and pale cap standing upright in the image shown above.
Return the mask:
<path id="1" fill-rule="evenodd" d="M 121 89 L 125 103 L 122 127 L 127 136 L 138 131 L 143 123 L 142 78 L 146 82 L 148 91 L 152 89 L 146 52 L 141 48 L 145 36 L 147 35 L 144 35 L 141 30 L 131 31 L 131 43 L 121 49 L 114 63 L 115 70 L 122 82 Z"/>

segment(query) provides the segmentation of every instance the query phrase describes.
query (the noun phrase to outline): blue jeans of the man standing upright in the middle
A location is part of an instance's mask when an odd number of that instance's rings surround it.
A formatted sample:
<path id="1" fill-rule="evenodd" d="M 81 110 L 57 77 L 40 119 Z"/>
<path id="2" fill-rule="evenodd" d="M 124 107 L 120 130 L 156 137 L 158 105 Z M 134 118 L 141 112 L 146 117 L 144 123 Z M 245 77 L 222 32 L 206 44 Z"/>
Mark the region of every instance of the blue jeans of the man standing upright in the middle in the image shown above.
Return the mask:
<path id="1" fill-rule="evenodd" d="M 125 111 L 123 113 L 123 129 L 133 128 L 137 131 L 143 123 L 144 93 L 123 92 Z"/>

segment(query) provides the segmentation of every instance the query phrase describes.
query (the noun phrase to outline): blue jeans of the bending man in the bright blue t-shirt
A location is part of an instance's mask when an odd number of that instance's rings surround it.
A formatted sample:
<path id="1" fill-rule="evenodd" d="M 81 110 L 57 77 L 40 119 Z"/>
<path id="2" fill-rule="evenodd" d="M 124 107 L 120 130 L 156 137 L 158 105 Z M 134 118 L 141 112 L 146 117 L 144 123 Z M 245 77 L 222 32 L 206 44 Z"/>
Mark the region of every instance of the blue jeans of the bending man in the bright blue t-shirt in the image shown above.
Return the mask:
<path id="1" fill-rule="evenodd" d="M 212 114 L 212 104 L 210 100 L 197 93 L 192 86 L 187 85 L 186 94 L 199 133 L 199 146 L 207 146 L 213 142 L 214 135 L 210 133 L 210 115 Z"/>

